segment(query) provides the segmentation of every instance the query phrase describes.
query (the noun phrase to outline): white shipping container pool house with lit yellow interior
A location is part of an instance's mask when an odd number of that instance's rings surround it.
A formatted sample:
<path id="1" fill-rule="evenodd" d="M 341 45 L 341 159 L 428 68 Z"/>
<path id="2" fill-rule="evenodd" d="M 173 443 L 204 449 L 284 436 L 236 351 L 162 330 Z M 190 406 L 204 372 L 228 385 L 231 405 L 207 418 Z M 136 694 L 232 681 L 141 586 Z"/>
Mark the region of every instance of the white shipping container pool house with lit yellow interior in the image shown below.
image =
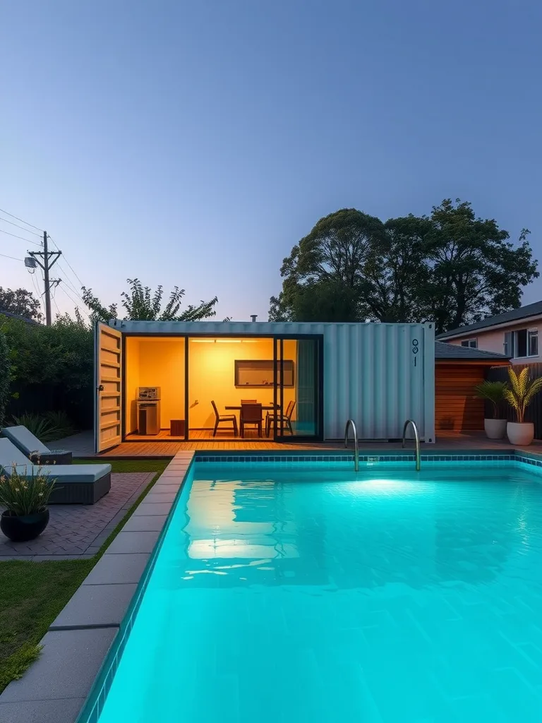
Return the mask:
<path id="1" fill-rule="evenodd" d="M 97 452 L 141 440 L 337 440 L 348 419 L 360 440 L 398 439 L 413 419 L 434 442 L 431 323 L 111 320 L 95 334 Z M 261 405 L 261 427 L 246 403 Z"/>

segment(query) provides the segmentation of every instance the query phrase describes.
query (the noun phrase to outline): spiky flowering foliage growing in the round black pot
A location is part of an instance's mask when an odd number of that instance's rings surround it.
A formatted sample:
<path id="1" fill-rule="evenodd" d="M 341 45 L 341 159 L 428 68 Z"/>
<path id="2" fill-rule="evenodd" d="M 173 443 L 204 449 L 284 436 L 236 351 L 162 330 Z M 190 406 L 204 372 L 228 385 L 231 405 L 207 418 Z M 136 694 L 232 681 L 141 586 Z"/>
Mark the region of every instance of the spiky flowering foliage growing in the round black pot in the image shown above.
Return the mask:
<path id="1" fill-rule="evenodd" d="M 12 473 L 0 476 L 0 505 L 13 515 L 33 515 L 43 512 L 54 488 L 54 480 L 40 467 L 15 468 Z"/>

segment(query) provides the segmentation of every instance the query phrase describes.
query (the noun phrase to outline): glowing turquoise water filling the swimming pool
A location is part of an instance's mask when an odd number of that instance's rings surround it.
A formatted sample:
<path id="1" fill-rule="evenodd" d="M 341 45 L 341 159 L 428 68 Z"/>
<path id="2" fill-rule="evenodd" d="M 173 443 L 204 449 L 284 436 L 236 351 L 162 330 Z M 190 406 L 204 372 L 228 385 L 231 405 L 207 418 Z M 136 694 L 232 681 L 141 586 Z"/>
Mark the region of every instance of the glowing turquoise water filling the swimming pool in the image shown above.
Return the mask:
<path id="1" fill-rule="evenodd" d="M 100 723 L 540 723 L 542 479 L 197 464 Z"/>

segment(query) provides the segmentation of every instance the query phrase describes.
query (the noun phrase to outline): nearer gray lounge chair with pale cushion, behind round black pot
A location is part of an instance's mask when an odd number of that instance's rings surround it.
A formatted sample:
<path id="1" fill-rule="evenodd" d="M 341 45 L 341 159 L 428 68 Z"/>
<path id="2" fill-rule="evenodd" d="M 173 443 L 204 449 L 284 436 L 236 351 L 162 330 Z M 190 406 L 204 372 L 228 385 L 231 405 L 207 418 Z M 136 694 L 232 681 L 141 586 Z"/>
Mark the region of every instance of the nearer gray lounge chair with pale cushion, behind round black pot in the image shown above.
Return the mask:
<path id="1" fill-rule="evenodd" d="M 7 438 L 0 438 L 0 468 L 11 474 L 30 476 L 38 470 L 21 450 Z M 51 504 L 93 505 L 111 489 L 111 464 L 55 464 L 41 465 L 40 469 L 56 479 Z"/>

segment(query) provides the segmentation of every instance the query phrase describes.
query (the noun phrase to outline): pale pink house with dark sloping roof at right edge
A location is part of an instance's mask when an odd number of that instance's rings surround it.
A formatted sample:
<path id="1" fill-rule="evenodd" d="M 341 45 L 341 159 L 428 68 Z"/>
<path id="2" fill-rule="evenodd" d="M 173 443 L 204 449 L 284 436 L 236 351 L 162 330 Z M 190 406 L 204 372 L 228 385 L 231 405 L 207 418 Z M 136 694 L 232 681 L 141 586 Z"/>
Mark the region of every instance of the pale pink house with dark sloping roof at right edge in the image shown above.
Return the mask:
<path id="1" fill-rule="evenodd" d="M 542 361 L 542 301 L 452 329 L 436 338 L 467 348 L 504 354 L 512 360 L 512 364 Z"/>

